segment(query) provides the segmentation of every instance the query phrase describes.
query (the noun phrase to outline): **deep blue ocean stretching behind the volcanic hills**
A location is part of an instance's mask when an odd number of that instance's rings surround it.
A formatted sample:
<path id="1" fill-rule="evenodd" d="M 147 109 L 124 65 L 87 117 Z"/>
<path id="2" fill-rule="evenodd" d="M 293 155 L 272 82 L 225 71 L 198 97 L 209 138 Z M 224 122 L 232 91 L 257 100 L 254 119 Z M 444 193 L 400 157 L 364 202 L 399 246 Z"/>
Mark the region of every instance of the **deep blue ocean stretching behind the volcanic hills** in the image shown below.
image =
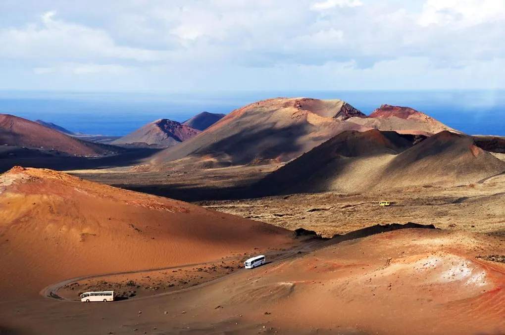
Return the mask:
<path id="1" fill-rule="evenodd" d="M 0 113 L 53 122 L 73 132 L 123 136 L 157 119 L 183 122 L 201 111 L 230 113 L 279 96 L 343 99 L 370 114 L 381 104 L 409 106 L 467 134 L 505 136 L 505 90 L 93 93 L 0 91 Z"/>

